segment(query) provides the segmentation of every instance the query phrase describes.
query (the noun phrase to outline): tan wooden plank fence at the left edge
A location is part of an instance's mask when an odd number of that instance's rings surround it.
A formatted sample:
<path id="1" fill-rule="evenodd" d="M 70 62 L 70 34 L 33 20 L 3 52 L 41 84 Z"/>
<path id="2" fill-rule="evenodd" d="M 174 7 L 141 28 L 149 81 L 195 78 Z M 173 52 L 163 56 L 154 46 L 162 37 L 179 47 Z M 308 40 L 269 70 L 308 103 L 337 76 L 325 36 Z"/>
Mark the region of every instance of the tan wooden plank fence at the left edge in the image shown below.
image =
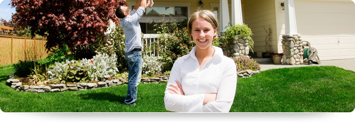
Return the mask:
<path id="1" fill-rule="evenodd" d="M 47 57 L 46 42 L 43 38 L 0 34 L 0 66 Z"/>

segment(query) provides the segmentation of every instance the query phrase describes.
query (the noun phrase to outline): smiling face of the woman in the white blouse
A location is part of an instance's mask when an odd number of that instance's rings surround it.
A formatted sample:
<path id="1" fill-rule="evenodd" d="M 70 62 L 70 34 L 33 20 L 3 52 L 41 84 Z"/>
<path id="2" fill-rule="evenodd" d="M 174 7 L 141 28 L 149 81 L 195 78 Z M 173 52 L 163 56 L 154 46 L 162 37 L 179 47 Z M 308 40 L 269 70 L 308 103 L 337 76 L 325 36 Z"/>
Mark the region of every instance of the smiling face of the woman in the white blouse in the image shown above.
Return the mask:
<path id="1" fill-rule="evenodd" d="M 217 35 L 217 30 L 205 18 L 198 17 L 192 22 L 191 36 L 197 48 L 207 49 L 212 47 L 213 36 Z"/>

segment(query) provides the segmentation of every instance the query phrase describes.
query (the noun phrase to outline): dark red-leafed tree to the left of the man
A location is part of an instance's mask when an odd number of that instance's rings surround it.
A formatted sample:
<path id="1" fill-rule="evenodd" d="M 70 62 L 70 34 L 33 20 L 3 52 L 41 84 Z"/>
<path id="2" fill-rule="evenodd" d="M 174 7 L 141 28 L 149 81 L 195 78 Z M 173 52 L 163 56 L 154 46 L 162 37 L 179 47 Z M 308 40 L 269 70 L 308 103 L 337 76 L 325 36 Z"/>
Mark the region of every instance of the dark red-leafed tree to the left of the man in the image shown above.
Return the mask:
<path id="1" fill-rule="evenodd" d="M 118 22 L 115 10 L 125 0 L 12 0 L 13 20 L 21 27 L 31 26 L 31 34 L 47 37 L 52 50 L 66 43 L 70 49 L 95 41 L 110 24 Z M 118 23 L 117 23 L 118 24 Z"/>

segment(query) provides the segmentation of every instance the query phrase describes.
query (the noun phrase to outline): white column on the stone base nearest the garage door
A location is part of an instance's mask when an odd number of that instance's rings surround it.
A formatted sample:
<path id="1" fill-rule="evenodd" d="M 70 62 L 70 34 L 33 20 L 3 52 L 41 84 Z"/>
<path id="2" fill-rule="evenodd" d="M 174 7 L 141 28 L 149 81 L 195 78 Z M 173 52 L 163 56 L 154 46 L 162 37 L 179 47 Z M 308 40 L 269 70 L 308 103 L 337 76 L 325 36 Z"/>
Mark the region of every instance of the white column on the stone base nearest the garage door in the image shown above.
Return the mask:
<path id="1" fill-rule="evenodd" d="M 296 15 L 293 0 L 285 0 L 285 34 L 297 35 Z"/>

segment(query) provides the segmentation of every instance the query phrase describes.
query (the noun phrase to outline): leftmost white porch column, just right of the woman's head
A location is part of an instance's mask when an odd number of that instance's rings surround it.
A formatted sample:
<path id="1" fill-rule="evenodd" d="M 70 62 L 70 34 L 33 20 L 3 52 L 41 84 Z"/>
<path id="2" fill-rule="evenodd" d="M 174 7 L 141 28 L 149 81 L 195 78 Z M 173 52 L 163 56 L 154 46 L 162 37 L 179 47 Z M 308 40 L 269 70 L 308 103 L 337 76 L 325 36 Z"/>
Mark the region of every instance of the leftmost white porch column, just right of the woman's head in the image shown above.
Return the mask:
<path id="1" fill-rule="evenodd" d="M 225 31 L 225 26 L 229 23 L 228 0 L 219 0 L 220 32 Z"/>

